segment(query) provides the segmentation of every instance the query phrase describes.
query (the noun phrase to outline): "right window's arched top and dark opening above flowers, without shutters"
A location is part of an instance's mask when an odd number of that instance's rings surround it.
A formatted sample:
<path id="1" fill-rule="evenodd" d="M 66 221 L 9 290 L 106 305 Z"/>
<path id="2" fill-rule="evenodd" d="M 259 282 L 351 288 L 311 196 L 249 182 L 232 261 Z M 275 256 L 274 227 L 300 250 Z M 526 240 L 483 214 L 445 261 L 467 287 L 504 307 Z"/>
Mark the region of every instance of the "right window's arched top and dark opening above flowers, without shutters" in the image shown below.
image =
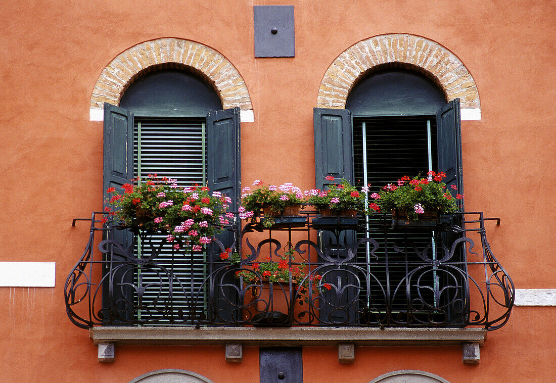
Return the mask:
<path id="1" fill-rule="evenodd" d="M 436 111 L 447 102 L 429 78 L 406 69 L 374 72 L 355 85 L 354 176 L 374 188 L 438 168 Z"/>

